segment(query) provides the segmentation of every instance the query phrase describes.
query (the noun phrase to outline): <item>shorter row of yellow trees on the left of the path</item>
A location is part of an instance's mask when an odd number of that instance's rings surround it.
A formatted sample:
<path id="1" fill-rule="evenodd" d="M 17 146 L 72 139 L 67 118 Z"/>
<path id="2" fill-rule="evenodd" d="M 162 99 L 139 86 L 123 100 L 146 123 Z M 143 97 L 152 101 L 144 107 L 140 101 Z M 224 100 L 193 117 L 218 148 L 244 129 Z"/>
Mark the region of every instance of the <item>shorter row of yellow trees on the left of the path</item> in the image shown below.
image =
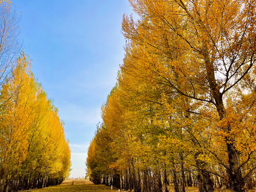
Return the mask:
<path id="1" fill-rule="evenodd" d="M 0 191 L 57 185 L 70 170 L 70 149 L 58 109 L 20 52 L 19 18 L 0 1 Z"/>

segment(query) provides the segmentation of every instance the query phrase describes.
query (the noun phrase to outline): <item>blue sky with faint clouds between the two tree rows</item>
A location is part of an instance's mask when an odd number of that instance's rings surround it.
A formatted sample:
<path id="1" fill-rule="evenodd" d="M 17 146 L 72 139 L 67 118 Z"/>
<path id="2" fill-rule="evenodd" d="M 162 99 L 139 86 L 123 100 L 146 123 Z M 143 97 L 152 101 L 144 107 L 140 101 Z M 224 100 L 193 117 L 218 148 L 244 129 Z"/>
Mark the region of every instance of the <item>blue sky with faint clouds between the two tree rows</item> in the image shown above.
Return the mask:
<path id="1" fill-rule="evenodd" d="M 23 51 L 59 109 L 70 142 L 70 177 L 85 176 L 87 148 L 100 108 L 124 57 L 123 14 L 128 0 L 13 0 L 21 11 Z"/>

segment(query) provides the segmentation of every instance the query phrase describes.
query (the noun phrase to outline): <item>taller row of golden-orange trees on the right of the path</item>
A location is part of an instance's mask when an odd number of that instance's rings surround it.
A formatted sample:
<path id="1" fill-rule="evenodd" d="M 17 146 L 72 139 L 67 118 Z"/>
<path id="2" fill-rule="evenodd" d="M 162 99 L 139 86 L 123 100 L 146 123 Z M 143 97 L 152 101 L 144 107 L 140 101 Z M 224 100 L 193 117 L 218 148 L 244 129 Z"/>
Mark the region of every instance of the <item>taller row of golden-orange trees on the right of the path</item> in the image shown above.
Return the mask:
<path id="1" fill-rule="evenodd" d="M 256 169 L 254 0 L 130 0 L 118 82 L 88 150 L 94 183 L 245 191 Z"/>

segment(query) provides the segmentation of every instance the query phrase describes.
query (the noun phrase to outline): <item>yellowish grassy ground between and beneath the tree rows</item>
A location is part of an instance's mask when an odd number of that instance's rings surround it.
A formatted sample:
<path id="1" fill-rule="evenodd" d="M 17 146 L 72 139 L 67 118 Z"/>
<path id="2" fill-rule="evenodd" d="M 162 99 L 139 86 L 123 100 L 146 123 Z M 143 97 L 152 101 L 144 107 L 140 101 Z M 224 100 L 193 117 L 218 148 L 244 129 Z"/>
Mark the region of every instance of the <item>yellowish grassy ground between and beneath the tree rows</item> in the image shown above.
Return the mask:
<path id="1" fill-rule="evenodd" d="M 46 187 L 43 189 L 31 189 L 23 190 L 22 192 L 117 192 L 118 190 L 111 190 L 110 187 L 105 185 L 94 185 L 88 180 L 67 180 L 58 186 Z M 122 190 L 123 191 L 123 190 Z M 174 189 L 170 186 L 170 192 Z M 197 187 L 186 187 L 187 192 L 197 192 Z M 229 192 L 228 189 L 215 189 L 216 192 Z M 256 189 L 250 190 L 250 192 L 256 192 Z"/>

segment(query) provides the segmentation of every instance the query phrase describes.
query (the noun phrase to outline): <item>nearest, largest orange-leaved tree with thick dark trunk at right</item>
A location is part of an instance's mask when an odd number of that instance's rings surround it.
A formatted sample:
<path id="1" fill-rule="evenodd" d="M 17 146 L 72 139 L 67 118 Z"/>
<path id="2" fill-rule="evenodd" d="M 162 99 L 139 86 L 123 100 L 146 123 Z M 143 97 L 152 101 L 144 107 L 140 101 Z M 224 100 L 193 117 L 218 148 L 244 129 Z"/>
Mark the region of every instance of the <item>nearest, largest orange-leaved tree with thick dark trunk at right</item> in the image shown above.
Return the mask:
<path id="1" fill-rule="evenodd" d="M 146 58 L 151 74 L 198 105 L 215 106 L 219 122 L 228 122 L 226 94 L 255 66 L 255 1 L 130 2 L 141 20 L 124 17 L 124 35 L 135 45 L 147 46 L 154 57 Z M 226 133 L 230 186 L 244 191 L 247 175 L 242 175 L 244 162 L 230 134 L 233 128 L 215 124 Z"/>

